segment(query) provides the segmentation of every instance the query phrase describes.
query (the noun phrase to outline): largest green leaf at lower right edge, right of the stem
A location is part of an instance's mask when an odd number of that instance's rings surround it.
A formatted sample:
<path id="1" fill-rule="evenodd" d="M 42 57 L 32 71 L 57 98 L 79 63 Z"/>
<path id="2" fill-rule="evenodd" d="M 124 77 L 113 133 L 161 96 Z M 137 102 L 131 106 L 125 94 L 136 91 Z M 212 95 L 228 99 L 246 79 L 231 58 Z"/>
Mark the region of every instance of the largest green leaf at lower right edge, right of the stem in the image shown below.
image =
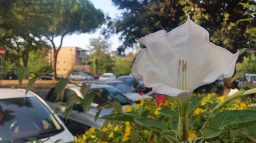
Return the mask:
<path id="1" fill-rule="evenodd" d="M 225 131 L 253 124 L 256 124 L 256 110 L 224 110 L 212 118 L 212 127 Z"/>

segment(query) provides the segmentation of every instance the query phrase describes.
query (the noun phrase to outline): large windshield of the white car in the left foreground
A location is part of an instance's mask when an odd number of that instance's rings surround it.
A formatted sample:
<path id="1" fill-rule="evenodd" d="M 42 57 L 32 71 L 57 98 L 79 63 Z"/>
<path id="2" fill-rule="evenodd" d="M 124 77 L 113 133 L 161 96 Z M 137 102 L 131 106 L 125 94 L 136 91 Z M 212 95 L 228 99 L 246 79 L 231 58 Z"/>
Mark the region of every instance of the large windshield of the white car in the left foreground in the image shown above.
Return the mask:
<path id="1" fill-rule="evenodd" d="M 36 97 L 0 100 L 0 142 L 27 142 L 63 131 L 49 109 Z"/>

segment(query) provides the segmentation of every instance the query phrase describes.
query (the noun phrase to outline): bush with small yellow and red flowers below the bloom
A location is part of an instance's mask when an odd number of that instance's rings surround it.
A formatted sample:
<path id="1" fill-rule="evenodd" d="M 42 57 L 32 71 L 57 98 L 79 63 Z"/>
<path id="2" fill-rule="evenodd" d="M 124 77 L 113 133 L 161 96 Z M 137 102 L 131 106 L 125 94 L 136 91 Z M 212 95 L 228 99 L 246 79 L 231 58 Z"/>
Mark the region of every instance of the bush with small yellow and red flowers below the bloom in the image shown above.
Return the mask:
<path id="1" fill-rule="evenodd" d="M 207 121 L 213 114 L 213 107 L 219 102 L 223 102 L 226 96 L 219 96 L 216 93 L 194 94 L 188 106 L 189 115 L 189 131 L 188 137 L 190 141 L 201 142 L 202 133 L 200 130 L 204 126 L 208 126 L 211 121 Z M 256 105 L 252 103 L 251 98 L 232 100 L 221 108 L 224 110 L 256 110 Z M 218 111 L 218 112 L 220 112 Z M 159 120 L 167 125 L 168 132 L 166 134 L 177 137 L 178 126 L 178 106 L 172 98 L 165 95 L 155 94 L 154 100 L 144 99 L 140 103 L 134 104 L 132 107 L 125 108 L 126 113 L 138 112 L 141 117 L 147 117 Z M 206 123 L 206 124 L 205 124 Z M 254 126 L 255 127 L 255 126 Z M 75 141 L 82 142 L 167 142 L 161 133 L 151 129 L 152 127 L 140 126 L 137 122 L 111 122 L 101 129 L 90 128 L 84 134 L 76 136 Z M 241 128 L 239 130 L 230 130 L 221 138 L 216 137 L 219 142 L 253 142 L 256 138 L 255 128 Z M 213 140 L 207 140 L 212 142 Z M 218 142 L 217 141 L 217 142 Z"/>

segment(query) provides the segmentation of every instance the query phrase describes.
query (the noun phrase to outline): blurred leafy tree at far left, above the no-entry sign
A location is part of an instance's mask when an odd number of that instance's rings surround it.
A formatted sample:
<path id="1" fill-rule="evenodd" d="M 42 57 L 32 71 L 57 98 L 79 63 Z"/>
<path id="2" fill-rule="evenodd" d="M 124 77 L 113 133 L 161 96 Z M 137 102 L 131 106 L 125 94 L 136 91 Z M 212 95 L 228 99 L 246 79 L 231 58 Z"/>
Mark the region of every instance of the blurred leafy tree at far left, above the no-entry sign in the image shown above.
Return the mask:
<path id="1" fill-rule="evenodd" d="M 36 0 L 0 1 L 0 43 L 6 48 L 6 61 L 19 66 L 17 60 L 21 59 L 27 67 L 29 52 L 46 47 L 40 34 L 46 27 L 47 5 Z"/>

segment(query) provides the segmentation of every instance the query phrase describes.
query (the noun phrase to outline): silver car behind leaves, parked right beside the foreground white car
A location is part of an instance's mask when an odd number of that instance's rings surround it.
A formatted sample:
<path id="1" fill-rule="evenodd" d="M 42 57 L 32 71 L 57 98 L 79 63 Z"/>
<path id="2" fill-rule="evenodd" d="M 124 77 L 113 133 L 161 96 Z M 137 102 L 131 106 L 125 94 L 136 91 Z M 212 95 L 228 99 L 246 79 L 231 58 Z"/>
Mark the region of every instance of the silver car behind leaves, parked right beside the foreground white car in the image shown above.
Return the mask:
<path id="1" fill-rule="evenodd" d="M 91 84 L 90 92 L 93 93 L 100 93 L 101 97 L 104 98 L 107 101 L 117 101 L 121 105 L 123 105 L 123 108 L 125 108 L 128 105 L 131 105 L 132 102 L 128 98 L 126 98 L 122 93 L 120 93 L 115 88 L 111 87 L 110 85 L 104 85 L 104 84 Z M 60 112 L 58 113 L 58 116 L 63 118 L 63 111 L 65 110 L 65 106 L 61 106 L 55 102 L 57 97 L 55 88 L 52 88 L 48 95 L 46 96 L 46 102 L 52 107 L 59 107 Z M 80 87 L 68 84 L 61 94 L 61 97 L 57 100 L 57 102 L 65 102 L 67 104 L 70 104 L 72 102 L 79 102 L 78 97 L 83 98 Z M 93 103 L 91 104 L 91 109 L 84 114 L 83 109 L 81 106 L 74 106 L 69 120 L 67 121 L 67 128 L 71 131 L 72 134 L 82 134 L 84 131 L 86 131 L 89 127 L 96 127 L 101 128 L 103 125 L 104 120 L 98 119 L 95 121 L 95 115 L 98 112 L 98 105 L 106 105 L 106 102 L 96 96 L 93 100 Z M 103 108 L 100 112 L 99 117 L 104 115 L 109 115 L 113 110 L 111 108 Z"/>

